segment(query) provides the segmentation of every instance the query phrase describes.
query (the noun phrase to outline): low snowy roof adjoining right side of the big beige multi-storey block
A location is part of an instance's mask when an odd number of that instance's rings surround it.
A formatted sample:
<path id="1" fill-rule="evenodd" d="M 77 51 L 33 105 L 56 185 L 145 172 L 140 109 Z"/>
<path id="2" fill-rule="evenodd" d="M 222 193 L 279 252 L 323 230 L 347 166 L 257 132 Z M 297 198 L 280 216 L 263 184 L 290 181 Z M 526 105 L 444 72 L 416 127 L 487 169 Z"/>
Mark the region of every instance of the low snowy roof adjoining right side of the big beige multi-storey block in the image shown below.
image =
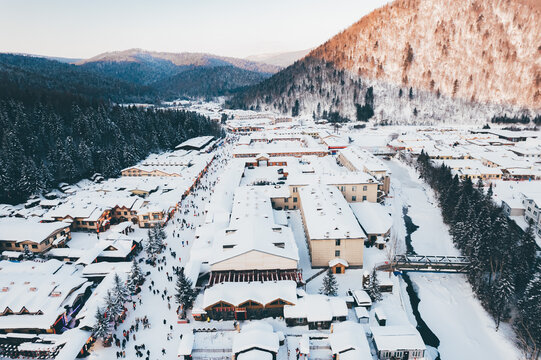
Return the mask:
<path id="1" fill-rule="evenodd" d="M 349 206 L 367 234 L 386 234 L 393 225 L 391 215 L 381 204 L 363 201 Z"/>

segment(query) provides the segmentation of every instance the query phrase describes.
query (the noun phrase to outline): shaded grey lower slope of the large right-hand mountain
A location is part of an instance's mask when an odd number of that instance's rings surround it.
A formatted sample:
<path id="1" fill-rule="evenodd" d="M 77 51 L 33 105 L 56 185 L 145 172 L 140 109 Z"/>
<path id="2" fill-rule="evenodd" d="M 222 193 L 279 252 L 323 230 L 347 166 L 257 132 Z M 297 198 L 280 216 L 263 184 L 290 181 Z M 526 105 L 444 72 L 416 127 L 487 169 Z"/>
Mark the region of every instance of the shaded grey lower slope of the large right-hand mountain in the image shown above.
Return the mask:
<path id="1" fill-rule="evenodd" d="M 368 95 L 368 91 L 372 93 Z M 534 113 L 524 109 L 481 104 L 369 79 L 313 57 L 299 60 L 271 78 L 235 94 L 226 105 L 309 115 L 315 119 L 329 119 L 336 114 L 334 118 L 371 119 L 382 125 L 484 124 L 501 115 L 535 117 Z"/>

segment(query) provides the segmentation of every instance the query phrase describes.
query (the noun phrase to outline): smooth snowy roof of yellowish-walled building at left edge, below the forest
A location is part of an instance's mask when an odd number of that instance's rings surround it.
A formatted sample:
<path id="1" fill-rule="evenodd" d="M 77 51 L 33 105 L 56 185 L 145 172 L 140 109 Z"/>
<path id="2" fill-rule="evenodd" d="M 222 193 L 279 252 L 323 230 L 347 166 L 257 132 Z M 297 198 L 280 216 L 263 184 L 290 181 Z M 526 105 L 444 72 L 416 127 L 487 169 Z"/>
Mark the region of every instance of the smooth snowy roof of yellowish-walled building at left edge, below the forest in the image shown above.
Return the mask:
<path id="1" fill-rule="evenodd" d="M 33 218 L 4 217 L 0 218 L 0 241 L 40 243 L 51 234 L 68 227 L 69 224 L 58 221 L 41 223 Z"/>

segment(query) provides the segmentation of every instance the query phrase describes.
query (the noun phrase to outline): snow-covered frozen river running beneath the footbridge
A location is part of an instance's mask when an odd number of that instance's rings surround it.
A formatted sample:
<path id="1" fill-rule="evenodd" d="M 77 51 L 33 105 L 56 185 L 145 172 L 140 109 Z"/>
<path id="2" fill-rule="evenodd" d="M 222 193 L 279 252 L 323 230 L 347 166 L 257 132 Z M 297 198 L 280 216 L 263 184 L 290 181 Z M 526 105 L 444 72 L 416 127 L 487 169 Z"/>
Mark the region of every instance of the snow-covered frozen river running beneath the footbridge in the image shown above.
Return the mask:
<path id="1" fill-rule="evenodd" d="M 419 226 L 411 236 L 414 250 L 421 255 L 458 254 L 429 186 L 412 168 L 396 160 L 386 164 L 392 171 L 394 208 L 408 206 L 408 215 Z M 464 275 L 410 273 L 410 278 L 421 299 L 419 312 L 440 340 L 442 359 L 521 358 L 509 326 L 496 331 Z"/>

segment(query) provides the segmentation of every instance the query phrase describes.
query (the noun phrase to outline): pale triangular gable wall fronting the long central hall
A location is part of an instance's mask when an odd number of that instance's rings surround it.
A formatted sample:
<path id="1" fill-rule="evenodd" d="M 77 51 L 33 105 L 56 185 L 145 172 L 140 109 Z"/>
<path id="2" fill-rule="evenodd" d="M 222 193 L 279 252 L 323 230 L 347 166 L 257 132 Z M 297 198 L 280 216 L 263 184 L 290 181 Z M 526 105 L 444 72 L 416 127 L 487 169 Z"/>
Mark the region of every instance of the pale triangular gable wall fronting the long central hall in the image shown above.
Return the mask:
<path id="1" fill-rule="evenodd" d="M 234 258 L 224 260 L 211 266 L 212 271 L 227 270 L 288 270 L 296 269 L 297 261 L 281 256 L 250 251 Z"/>

